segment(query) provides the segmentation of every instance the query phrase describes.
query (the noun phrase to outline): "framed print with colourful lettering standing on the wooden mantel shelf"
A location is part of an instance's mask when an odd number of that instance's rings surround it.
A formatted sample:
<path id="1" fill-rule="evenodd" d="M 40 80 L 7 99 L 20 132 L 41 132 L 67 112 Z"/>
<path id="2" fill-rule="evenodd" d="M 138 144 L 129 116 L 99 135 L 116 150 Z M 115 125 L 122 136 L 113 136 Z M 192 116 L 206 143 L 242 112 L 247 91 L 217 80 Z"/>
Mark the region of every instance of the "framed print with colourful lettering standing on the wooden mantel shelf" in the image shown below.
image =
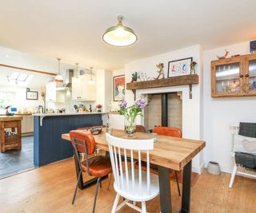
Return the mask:
<path id="1" fill-rule="evenodd" d="M 186 57 L 168 62 L 168 77 L 186 76 L 191 74 L 190 64 L 193 57 Z"/>

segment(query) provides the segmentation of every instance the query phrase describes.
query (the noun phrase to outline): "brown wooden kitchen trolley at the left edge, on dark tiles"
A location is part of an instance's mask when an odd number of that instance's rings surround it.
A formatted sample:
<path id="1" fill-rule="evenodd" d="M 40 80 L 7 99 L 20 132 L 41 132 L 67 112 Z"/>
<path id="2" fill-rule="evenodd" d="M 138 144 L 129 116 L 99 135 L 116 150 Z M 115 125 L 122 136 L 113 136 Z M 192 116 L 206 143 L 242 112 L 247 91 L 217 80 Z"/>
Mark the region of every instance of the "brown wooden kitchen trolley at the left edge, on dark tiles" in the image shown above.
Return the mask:
<path id="1" fill-rule="evenodd" d="M 11 130 L 13 135 L 6 135 Z M 22 149 L 22 116 L 0 116 L 0 144 L 1 152 L 8 149 Z"/>

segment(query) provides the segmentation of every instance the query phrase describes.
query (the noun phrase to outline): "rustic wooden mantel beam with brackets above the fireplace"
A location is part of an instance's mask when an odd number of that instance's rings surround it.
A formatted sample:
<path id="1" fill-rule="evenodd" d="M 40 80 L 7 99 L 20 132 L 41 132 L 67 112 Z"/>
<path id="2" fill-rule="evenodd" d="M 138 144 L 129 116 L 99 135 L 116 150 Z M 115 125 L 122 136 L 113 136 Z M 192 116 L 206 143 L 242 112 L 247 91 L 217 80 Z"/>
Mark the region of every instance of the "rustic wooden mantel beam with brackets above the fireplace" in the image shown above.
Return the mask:
<path id="1" fill-rule="evenodd" d="M 189 85 L 190 86 L 190 99 L 192 98 L 192 85 L 198 85 L 199 77 L 198 75 L 186 75 L 178 77 L 168 77 L 164 79 L 150 80 L 150 81 L 139 81 L 133 83 L 127 83 L 126 89 L 132 90 L 134 92 L 134 98 L 136 98 L 136 89 L 151 89 L 159 87 L 169 87 L 169 86 L 180 86 Z"/>

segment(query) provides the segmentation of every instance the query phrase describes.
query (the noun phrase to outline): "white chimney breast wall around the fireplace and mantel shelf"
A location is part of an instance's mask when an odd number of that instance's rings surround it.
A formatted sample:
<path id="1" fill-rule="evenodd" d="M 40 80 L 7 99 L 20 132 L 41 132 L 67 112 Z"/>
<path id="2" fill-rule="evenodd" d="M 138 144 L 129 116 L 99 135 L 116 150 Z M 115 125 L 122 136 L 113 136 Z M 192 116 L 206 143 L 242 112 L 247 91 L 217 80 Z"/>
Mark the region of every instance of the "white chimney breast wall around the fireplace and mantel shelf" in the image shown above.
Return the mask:
<path id="1" fill-rule="evenodd" d="M 200 45 L 190 46 L 185 49 L 178 49 L 169 53 L 160 54 L 154 57 L 143 58 L 133 61 L 125 66 L 126 82 L 131 81 L 131 74 L 135 71 L 146 73 L 147 77 L 157 77 L 158 63 L 163 62 L 165 76 L 167 77 L 168 61 L 178 60 L 186 57 L 193 57 L 198 62 L 197 73 L 199 78 L 202 76 L 202 49 Z M 193 85 L 193 99 L 189 98 L 189 86 L 175 86 L 158 89 L 140 89 L 137 94 L 147 93 L 170 93 L 182 92 L 182 133 L 186 138 L 200 140 L 202 131 L 202 81 L 199 85 Z M 131 105 L 134 101 L 134 95 L 131 91 L 126 90 L 126 101 Z M 141 120 L 142 122 L 142 120 Z M 194 172 L 201 172 L 203 168 L 202 152 L 193 160 Z"/>

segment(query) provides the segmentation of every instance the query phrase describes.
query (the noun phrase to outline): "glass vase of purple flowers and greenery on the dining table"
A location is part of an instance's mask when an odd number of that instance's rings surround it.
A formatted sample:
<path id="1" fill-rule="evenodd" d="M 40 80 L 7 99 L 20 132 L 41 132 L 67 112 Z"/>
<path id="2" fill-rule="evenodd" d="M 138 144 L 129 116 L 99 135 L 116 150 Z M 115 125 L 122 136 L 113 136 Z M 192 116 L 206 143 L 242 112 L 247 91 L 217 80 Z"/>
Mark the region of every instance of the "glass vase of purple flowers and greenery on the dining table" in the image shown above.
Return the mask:
<path id="1" fill-rule="evenodd" d="M 137 116 L 143 116 L 142 110 L 146 107 L 146 101 L 142 98 L 137 99 L 134 105 L 127 106 L 126 100 L 119 103 L 119 114 L 125 117 L 125 131 L 128 137 L 133 137 L 136 129 L 135 120 Z"/>

